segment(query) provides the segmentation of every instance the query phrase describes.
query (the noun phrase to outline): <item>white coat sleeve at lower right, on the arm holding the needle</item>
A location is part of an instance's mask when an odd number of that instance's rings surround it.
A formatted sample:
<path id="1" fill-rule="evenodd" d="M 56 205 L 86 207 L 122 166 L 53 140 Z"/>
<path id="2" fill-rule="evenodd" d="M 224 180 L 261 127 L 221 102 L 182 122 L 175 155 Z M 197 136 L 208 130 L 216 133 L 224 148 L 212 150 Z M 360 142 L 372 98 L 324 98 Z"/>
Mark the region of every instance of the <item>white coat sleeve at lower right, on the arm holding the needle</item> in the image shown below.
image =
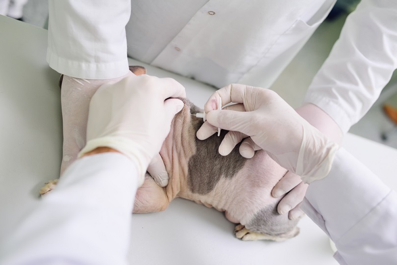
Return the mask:
<path id="1" fill-rule="evenodd" d="M 340 264 L 397 264 L 397 194 L 346 150 L 309 185 L 302 210 L 335 242 Z"/>

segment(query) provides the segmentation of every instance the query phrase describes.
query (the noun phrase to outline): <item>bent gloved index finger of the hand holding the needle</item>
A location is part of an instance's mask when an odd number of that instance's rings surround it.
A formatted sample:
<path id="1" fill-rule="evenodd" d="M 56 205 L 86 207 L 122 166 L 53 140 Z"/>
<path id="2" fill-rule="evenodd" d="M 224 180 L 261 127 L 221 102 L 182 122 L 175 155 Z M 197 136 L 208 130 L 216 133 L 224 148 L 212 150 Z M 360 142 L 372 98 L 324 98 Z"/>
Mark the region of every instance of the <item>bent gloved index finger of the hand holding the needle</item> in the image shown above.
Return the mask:
<path id="1" fill-rule="evenodd" d="M 217 90 L 204 105 L 204 111 L 218 109 L 218 102 L 221 99 L 222 106 L 229 103 L 245 103 L 245 90 L 251 86 L 243 84 L 229 84 Z"/>

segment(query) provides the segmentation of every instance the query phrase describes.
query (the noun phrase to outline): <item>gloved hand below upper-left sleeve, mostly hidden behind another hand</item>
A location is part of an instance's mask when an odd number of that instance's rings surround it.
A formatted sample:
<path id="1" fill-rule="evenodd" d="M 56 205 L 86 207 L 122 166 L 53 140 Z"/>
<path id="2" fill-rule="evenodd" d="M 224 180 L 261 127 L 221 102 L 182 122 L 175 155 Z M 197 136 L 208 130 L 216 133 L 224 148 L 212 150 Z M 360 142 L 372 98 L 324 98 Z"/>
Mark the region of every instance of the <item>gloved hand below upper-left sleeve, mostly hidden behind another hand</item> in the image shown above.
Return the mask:
<path id="1" fill-rule="evenodd" d="M 135 68 L 131 69 L 133 71 Z M 137 68 L 137 74 L 142 74 L 142 67 Z M 77 79 L 64 76 L 61 89 L 61 105 L 63 119 L 63 155 L 60 174 L 77 159 L 77 154 L 86 143 L 86 127 L 88 108 L 91 97 L 99 86 L 107 82 L 117 82 L 124 77 L 133 75 L 128 72 L 125 76 L 115 79 L 92 80 Z M 168 185 L 168 173 L 161 156 L 157 154 L 149 165 L 148 172 L 154 181 L 164 187 Z"/>

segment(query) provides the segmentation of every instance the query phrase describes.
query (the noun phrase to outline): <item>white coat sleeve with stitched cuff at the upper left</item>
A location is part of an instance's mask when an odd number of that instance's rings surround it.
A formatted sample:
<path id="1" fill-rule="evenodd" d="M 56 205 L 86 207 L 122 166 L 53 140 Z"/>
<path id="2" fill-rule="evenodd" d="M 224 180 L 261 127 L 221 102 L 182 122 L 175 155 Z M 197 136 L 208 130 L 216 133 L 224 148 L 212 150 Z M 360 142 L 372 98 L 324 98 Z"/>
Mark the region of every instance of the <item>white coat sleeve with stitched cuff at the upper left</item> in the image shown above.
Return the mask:
<path id="1" fill-rule="evenodd" d="M 130 15 L 130 0 L 49 0 L 50 67 L 82 79 L 124 76 Z"/>

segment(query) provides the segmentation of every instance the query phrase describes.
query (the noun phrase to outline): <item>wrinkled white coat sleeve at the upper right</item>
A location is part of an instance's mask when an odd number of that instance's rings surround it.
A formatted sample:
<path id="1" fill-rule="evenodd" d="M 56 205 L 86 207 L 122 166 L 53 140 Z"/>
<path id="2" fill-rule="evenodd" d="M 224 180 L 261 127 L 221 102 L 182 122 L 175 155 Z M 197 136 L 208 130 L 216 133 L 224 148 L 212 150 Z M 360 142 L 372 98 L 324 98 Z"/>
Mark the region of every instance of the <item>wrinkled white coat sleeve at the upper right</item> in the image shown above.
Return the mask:
<path id="1" fill-rule="evenodd" d="M 397 67 L 397 1 L 361 0 L 310 85 L 305 103 L 347 132 L 370 109 Z"/>

